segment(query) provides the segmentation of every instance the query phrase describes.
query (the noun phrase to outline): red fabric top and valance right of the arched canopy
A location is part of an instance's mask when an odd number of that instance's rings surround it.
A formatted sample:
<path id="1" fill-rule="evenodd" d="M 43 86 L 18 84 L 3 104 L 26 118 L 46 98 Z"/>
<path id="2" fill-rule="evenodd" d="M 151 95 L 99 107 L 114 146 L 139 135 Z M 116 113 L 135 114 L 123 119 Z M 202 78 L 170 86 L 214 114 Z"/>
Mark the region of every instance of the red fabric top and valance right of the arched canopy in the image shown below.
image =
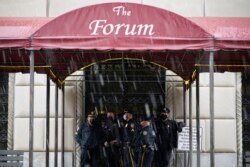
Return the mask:
<path id="1" fill-rule="evenodd" d="M 189 18 L 214 36 L 217 49 L 250 49 L 250 18 Z"/>

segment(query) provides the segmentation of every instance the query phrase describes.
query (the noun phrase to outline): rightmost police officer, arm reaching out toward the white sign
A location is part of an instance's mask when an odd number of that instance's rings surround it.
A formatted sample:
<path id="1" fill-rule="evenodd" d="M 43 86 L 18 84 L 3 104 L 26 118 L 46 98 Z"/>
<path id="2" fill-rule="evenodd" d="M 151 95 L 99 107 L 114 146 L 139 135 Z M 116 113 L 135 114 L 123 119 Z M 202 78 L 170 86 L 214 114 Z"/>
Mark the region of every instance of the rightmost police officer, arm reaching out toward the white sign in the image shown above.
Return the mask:
<path id="1" fill-rule="evenodd" d="M 175 120 L 169 118 L 170 110 L 164 108 L 160 113 L 160 119 L 156 122 L 157 127 L 157 145 L 159 147 L 160 166 L 167 167 L 171 156 L 172 150 L 177 148 L 178 132 L 182 131 L 184 124 L 177 123 Z"/>

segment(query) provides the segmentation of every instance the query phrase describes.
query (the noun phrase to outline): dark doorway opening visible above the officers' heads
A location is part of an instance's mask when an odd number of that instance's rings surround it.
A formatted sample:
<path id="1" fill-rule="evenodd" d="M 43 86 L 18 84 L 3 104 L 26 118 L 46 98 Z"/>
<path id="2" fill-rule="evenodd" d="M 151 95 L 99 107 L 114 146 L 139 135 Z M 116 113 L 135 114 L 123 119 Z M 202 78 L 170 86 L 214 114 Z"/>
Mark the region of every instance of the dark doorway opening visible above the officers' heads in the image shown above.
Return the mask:
<path id="1" fill-rule="evenodd" d="M 165 105 L 165 69 L 149 62 L 112 60 L 85 71 L 86 110 L 156 112 Z"/>

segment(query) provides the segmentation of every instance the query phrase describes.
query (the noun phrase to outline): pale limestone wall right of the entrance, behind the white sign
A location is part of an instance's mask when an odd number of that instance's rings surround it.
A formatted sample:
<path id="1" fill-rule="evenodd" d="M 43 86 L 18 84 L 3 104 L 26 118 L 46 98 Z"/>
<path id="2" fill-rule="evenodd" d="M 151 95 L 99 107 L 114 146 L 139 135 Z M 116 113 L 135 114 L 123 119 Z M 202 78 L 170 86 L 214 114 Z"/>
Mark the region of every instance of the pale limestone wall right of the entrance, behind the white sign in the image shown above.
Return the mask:
<path id="1" fill-rule="evenodd" d="M 192 85 L 192 125 L 196 127 L 196 84 Z M 237 156 L 240 156 L 241 138 L 237 131 L 237 122 L 241 121 L 241 75 L 239 73 L 215 73 L 214 75 L 214 144 L 215 144 L 215 166 L 227 165 L 237 166 Z M 183 88 L 175 87 L 174 109 L 176 118 L 183 120 Z M 189 126 L 189 91 L 186 94 L 187 126 Z M 210 162 L 210 99 L 209 99 L 209 74 L 200 74 L 200 127 L 202 128 L 201 139 L 201 163 L 209 166 Z M 237 116 L 240 114 L 239 116 Z M 242 148 L 241 148 L 242 149 Z M 183 156 L 180 154 L 180 156 Z M 196 153 L 194 151 L 194 166 L 196 164 Z M 218 158 L 220 157 L 220 158 Z M 180 165 L 180 164 L 179 164 Z"/>

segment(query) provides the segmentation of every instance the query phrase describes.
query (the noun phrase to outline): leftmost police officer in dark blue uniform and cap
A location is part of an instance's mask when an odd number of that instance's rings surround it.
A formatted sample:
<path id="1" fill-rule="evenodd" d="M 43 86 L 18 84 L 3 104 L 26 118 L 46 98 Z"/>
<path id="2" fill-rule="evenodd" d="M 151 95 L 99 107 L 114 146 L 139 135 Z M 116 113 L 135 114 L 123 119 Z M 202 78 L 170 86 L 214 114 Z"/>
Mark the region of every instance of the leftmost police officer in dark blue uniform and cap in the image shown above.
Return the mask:
<path id="1" fill-rule="evenodd" d="M 101 129 L 95 124 L 96 115 L 91 112 L 87 116 L 86 123 L 83 123 L 77 134 L 76 141 L 81 147 L 81 167 L 96 167 L 100 159 Z"/>

